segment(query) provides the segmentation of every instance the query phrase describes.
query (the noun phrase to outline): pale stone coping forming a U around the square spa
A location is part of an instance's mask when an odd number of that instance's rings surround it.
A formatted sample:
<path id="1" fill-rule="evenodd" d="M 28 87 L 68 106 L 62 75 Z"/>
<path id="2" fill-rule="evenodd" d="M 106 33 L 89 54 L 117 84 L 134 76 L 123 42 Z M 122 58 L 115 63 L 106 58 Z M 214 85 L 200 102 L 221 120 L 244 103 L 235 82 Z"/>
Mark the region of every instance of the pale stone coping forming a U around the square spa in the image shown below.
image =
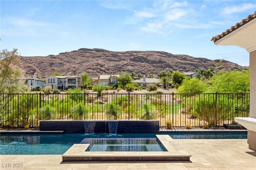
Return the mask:
<path id="1" fill-rule="evenodd" d="M 167 151 L 162 152 L 92 152 L 90 144 L 74 144 L 63 155 L 62 162 L 76 161 L 190 161 L 186 150 L 176 150 L 169 135 L 156 135 Z"/>

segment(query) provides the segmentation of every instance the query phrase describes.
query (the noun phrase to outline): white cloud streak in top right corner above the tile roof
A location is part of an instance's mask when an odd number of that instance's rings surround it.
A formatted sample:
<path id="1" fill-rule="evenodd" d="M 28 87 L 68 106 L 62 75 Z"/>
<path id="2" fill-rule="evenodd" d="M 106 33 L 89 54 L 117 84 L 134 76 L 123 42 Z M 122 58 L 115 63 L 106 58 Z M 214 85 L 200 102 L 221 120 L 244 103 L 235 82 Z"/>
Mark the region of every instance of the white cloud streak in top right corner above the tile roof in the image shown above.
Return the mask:
<path id="1" fill-rule="evenodd" d="M 233 13 L 238 13 L 238 12 L 244 12 L 249 9 L 255 9 L 256 4 L 248 3 L 248 4 L 240 4 L 237 6 L 227 6 L 222 10 L 222 14 L 229 15 Z"/>

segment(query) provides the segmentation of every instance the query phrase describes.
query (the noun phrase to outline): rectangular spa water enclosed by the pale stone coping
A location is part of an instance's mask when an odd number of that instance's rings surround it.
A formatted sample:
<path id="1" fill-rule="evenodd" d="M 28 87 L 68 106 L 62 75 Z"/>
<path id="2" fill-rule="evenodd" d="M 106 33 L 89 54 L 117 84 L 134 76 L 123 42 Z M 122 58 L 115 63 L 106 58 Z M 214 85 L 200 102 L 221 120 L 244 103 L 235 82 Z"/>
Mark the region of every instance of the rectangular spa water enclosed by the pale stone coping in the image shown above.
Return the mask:
<path id="1" fill-rule="evenodd" d="M 167 151 L 156 138 L 84 138 L 86 151 Z"/>

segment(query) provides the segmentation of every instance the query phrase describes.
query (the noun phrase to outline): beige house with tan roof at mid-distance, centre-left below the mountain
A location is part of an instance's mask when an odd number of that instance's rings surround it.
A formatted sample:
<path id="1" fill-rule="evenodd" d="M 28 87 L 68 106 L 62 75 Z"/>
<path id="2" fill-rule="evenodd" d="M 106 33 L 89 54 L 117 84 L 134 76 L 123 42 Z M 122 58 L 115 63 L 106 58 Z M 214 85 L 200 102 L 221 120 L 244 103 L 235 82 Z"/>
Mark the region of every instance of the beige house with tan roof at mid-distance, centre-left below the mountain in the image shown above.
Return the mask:
<path id="1" fill-rule="evenodd" d="M 100 73 L 98 73 L 98 78 L 93 78 L 92 82 L 90 83 L 90 85 L 94 85 L 96 83 L 100 84 L 100 85 L 108 85 L 108 86 L 112 86 L 114 84 L 116 84 L 116 77 L 119 77 L 119 75 L 100 75 Z"/>

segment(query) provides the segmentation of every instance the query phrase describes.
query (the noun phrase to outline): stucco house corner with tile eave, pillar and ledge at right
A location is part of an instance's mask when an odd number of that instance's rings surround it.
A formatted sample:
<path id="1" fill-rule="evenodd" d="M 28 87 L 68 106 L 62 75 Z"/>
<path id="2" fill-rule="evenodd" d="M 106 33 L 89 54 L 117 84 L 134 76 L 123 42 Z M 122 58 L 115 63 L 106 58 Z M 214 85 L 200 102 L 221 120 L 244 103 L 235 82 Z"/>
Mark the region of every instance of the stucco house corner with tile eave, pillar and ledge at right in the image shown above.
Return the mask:
<path id="1" fill-rule="evenodd" d="M 250 54 L 250 116 L 235 117 L 235 121 L 247 128 L 249 149 L 256 151 L 256 11 L 220 35 L 212 38 L 215 45 L 236 45 Z"/>

